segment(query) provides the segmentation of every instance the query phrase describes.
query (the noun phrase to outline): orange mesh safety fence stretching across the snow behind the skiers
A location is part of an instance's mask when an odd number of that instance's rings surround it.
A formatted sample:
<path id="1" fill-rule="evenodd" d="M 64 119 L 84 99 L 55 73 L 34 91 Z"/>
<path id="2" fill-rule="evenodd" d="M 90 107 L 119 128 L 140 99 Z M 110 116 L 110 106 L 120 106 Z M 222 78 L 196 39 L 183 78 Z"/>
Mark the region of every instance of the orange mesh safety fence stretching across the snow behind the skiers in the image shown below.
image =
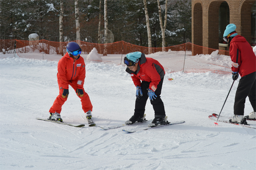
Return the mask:
<path id="1" fill-rule="evenodd" d="M 48 59 L 58 61 L 66 54 L 68 42 L 51 42 L 47 40 L 16 41 L 16 52 L 19 57 L 31 59 Z M 13 45 L 14 40 L 1 40 L 1 50 Z M 76 41 L 81 49 L 81 56 L 86 62 L 105 62 L 123 64 L 126 54 L 140 51 L 157 59 L 168 72 L 214 72 L 221 74 L 231 73 L 231 59 L 229 51 L 206 48 L 187 42 L 166 48 L 148 48 L 119 41 L 108 44 L 96 44 Z M 9 47 L 9 49 L 11 49 Z M 3 51 L 3 50 L 2 50 Z"/>

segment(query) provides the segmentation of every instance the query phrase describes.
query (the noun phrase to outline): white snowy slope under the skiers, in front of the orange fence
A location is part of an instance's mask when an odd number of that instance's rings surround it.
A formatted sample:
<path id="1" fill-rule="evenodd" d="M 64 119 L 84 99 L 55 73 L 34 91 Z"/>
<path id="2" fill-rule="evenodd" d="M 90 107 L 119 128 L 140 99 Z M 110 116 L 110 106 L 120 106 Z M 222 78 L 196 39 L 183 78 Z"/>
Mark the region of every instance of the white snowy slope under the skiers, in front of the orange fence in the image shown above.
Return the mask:
<path id="1" fill-rule="evenodd" d="M 161 98 L 168 120 L 186 122 L 125 133 L 122 129 L 147 127 L 154 110 L 148 101 L 144 124 L 113 130 L 98 127 L 122 125 L 134 113 L 136 88 L 123 65 L 86 63 L 84 89 L 97 126 L 87 126 L 81 102 L 70 87 L 61 117 L 67 123 L 86 125 L 70 127 L 36 119 L 49 117 L 59 93 L 58 61 L 12 56 L 0 57 L 1 170 L 256 169 L 256 130 L 222 122 L 215 126 L 208 118 L 221 111 L 233 82 L 231 75 L 166 73 Z M 222 116 L 233 116 L 239 79 Z M 247 98 L 244 114 L 251 111 Z M 256 127 L 256 121 L 249 123 Z"/>

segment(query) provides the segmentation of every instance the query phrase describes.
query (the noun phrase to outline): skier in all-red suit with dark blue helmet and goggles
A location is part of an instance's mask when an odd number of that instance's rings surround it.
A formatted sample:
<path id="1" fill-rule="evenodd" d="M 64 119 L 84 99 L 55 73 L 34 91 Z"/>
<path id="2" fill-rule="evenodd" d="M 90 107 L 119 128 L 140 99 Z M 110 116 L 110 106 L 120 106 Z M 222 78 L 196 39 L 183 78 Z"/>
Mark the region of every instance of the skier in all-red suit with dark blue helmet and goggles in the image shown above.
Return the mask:
<path id="1" fill-rule="evenodd" d="M 69 94 L 69 85 L 76 91 L 77 96 L 81 99 L 82 109 L 86 113 L 88 122 L 91 119 L 93 106 L 88 94 L 84 91 L 85 63 L 80 56 L 81 48 L 76 42 L 67 44 L 67 53 L 58 62 L 58 86 L 59 95 L 50 108 L 50 120 L 62 122 L 61 107 L 67 101 Z"/>

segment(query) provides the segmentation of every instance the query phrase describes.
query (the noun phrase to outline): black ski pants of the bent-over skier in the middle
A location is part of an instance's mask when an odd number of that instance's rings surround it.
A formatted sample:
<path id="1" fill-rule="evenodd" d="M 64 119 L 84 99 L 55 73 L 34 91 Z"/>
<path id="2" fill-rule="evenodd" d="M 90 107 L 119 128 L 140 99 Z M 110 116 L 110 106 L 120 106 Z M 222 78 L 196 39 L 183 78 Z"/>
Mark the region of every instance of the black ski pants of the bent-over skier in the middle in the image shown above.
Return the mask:
<path id="1" fill-rule="evenodd" d="M 145 113 L 145 106 L 148 100 L 149 84 L 150 82 L 146 82 L 146 81 L 141 82 L 141 90 L 142 90 L 143 96 L 140 99 L 136 98 L 135 109 L 134 109 L 135 116 L 143 117 Z M 161 81 L 157 85 L 157 90 L 155 91 L 157 98 L 154 99 L 153 101 L 150 100 L 150 102 L 151 102 L 151 105 L 153 105 L 155 117 L 165 118 L 166 114 L 164 110 L 164 105 L 160 97 L 162 86 L 163 86 L 163 79 L 161 79 Z"/>

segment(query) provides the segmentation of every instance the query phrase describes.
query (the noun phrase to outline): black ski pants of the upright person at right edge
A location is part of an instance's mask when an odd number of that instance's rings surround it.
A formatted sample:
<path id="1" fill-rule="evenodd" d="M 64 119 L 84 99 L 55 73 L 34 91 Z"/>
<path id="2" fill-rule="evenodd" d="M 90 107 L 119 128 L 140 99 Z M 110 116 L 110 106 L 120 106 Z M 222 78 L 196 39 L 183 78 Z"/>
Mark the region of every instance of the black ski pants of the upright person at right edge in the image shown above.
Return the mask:
<path id="1" fill-rule="evenodd" d="M 234 114 L 244 115 L 244 104 L 247 96 L 253 111 L 256 111 L 256 72 L 241 77 L 239 80 L 235 96 Z"/>

